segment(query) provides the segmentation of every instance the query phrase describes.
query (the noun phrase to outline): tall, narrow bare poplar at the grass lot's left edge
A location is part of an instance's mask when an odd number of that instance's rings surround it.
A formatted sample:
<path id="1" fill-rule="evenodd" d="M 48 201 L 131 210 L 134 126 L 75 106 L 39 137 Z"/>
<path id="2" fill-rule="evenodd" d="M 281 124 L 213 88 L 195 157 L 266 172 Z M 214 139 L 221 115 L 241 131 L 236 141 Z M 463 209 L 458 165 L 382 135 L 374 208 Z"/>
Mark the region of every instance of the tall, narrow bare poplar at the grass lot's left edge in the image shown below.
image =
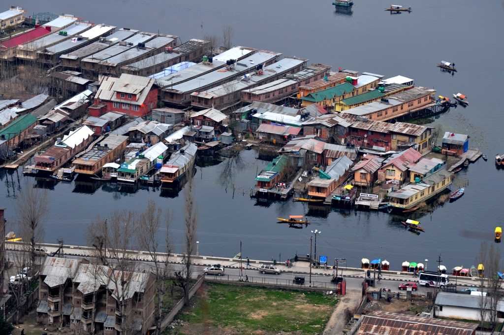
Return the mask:
<path id="1" fill-rule="evenodd" d="M 192 275 L 193 253 L 196 248 L 196 232 L 198 230 L 198 206 L 196 204 L 194 171 L 187 171 L 187 184 L 184 188 L 184 243 L 183 269 L 175 271 L 176 285 L 184 291 L 184 303 L 189 303 L 189 290 Z"/>

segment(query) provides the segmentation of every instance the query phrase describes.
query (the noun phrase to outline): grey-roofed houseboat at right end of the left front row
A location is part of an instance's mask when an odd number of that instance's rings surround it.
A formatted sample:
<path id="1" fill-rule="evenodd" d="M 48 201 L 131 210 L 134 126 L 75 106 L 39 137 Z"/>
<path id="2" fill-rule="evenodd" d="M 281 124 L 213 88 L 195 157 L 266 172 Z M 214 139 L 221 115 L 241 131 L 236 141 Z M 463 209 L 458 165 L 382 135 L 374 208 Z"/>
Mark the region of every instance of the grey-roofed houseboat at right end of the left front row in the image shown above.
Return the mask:
<path id="1" fill-rule="evenodd" d="M 193 167 L 197 152 L 198 146 L 195 143 L 190 143 L 172 154 L 159 170 L 161 184 L 166 186 L 179 181 L 185 172 Z"/>

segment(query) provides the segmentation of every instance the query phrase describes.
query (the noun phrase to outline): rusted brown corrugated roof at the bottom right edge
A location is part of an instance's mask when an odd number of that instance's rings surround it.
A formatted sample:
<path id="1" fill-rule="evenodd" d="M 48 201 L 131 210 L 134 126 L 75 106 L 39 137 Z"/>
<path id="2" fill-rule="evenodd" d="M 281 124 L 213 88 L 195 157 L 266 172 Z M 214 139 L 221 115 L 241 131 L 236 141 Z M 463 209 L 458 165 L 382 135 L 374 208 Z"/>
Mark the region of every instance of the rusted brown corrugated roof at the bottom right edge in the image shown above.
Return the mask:
<path id="1" fill-rule="evenodd" d="M 471 335 L 478 327 L 477 323 L 411 316 L 391 312 L 371 312 L 362 315 L 357 335 Z"/>

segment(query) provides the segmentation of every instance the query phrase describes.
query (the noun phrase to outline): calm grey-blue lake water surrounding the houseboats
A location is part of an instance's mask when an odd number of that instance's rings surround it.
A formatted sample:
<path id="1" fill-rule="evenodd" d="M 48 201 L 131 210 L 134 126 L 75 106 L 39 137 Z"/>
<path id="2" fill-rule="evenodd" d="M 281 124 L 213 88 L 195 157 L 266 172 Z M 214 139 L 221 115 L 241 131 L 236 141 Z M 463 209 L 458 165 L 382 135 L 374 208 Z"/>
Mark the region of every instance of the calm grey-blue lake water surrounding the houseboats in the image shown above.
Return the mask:
<path id="1" fill-rule="evenodd" d="M 200 224 L 200 253 L 232 257 L 239 252 L 256 259 L 281 259 L 309 253 L 310 230 L 317 238 L 317 254 L 346 257 L 349 265 L 360 259 L 382 258 L 399 269 L 403 261 L 423 262 L 428 268 L 442 253 L 448 267 L 469 267 L 481 241 L 493 240 L 496 226 L 503 224 L 504 170 L 497 170 L 493 157 L 502 153 L 502 105 L 500 101 L 504 65 L 504 2 L 475 6 L 474 2 L 426 0 L 402 2 L 411 13 L 390 14 L 389 2 L 355 1 L 351 13 L 335 11 L 331 0 L 291 1 L 87 1 L 25 0 L 33 13 L 71 13 L 95 23 L 129 27 L 141 31 L 178 35 L 182 41 L 221 34 L 223 23 L 234 27 L 233 44 L 282 52 L 332 65 L 388 77 L 403 75 L 417 86 L 434 87 L 437 94 L 461 92 L 470 106 L 452 108 L 430 125 L 442 124 L 445 131 L 471 136 L 469 145 L 480 147 L 489 157 L 480 159 L 457 174 L 452 189 L 469 182 L 465 195 L 454 203 L 412 215 L 422 222 L 420 235 L 405 231 L 401 217 L 382 212 L 344 210 L 303 203 L 262 202 L 250 199 L 249 188 L 256 172 L 267 162 L 257 160 L 254 150 L 243 151 L 233 162 L 232 177 L 226 161 L 197 171 L 197 200 Z M 203 23 L 203 28 L 201 25 Z M 441 72 L 440 61 L 455 62 L 455 75 Z M 224 172 L 224 173 L 223 173 Z M 12 173 L 12 171 L 11 171 Z M 21 171 L 0 173 L 0 207 L 14 221 L 15 196 L 23 191 Z M 235 183 L 233 197 L 232 180 Z M 83 244 L 87 223 L 100 213 L 117 208 L 143 210 L 149 199 L 176 211 L 175 242 L 182 241 L 182 193 L 132 190 L 115 185 L 74 181 L 71 184 L 39 181 L 49 187 L 51 214 L 45 241 L 64 238 Z M 226 192 L 227 186 L 227 192 Z M 132 193 L 133 192 L 133 193 Z M 289 229 L 276 224 L 276 217 L 304 214 L 308 229 Z M 177 247 L 180 250 L 180 246 Z"/>

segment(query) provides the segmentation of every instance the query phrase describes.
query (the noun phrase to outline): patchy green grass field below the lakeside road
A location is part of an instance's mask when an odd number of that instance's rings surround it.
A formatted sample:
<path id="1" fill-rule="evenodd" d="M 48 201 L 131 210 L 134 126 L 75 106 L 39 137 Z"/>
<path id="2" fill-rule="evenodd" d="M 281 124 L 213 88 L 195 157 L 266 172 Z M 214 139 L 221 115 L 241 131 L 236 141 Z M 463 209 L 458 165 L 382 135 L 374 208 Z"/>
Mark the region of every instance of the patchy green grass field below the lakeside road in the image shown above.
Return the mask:
<path id="1" fill-rule="evenodd" d="M 334 297 L 323 293 L 206 283 L 195 307 L 179 318 L 232 333 L 321 333 L 336 303 Z"/>

